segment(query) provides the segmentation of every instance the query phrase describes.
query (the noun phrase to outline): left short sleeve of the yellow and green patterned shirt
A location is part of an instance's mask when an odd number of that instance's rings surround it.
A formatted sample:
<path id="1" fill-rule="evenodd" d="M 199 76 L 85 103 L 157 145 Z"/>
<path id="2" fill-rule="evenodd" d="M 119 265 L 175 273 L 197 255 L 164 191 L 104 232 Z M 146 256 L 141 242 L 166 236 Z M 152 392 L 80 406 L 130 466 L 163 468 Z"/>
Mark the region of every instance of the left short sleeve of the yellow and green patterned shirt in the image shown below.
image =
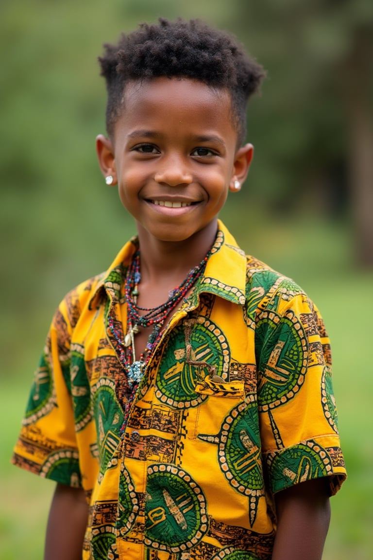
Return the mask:
<path id="1" fill-rule="evenodd" d="M 56 311 L 34 375 L 12 463 L 41 477 L 81 486 L 70 384 L 71 325 Z"/>

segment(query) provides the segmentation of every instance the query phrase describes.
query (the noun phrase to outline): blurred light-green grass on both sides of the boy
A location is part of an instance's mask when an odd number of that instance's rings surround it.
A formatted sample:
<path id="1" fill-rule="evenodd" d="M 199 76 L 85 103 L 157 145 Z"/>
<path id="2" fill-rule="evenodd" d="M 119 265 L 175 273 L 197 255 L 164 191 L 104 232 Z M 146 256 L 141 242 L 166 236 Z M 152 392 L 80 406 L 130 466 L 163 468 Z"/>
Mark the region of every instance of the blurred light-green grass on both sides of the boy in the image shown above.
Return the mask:
<path id="1" fill-rule="evenodd" d="M 307 237 L 306 229 L 302 235 Z M 325 231 L 320 231 L 319 235 L 320 240 L 323 240 L 324 250 L 317 249 L 314 242 L 309 244 L 309 249 L 303 257 L 301 255 L 296 261 L 292 259 L 294 247 L 291 240 L 294 236 L 289 236 L 285 230 L 283 238 L 290 241 L 287 253 L 283 251 L 278 256 L 276 247 L 268 245 L 262 250 L 258 243 L 258 247 L 254 246 L 252 253 L 271 264 L 275 261 L 275 267 L 276 258 L 282 259 L 285 268 L 282 267 L 281 270 L 288 276 L 296 277 L 322 311 L 332 340 L 334 393 L 338 405 L 342 449 L 348 470 L 347 482 L 344 483 L 341 492 L 332 498 L 332 521 L 323 558 L 371 560 L 373 375 L 369 349 L 373 273 L 353 272 L 343 264 L 341 258 L 337 258 L 338 251 L 341 253 L 337 240 L 338 243 L 344 242 L 339 234 L 334 232 L 327 236 Z M 303 243 L 304 240 L 300 236 L 298 241 Z M 333 258 L 325 256 L 325 242 L 336 246 L 333 253 L 335 262 Z M 242 243 L 247 249 L 245 245 L 247 244 Z M 314 266 L 315 263 L 318 267 Z M 31 367 L 36 357 L 35 348 L 29 352 L 26 348 L 24 354 L 14 354 L 14 371 L 32 371 Z M 9 464 L 29 390 L 30 376 L 24 377 L 10 372 L 1 384 L 1 558 L 40 560 L 43 556 L 46 518 L 54 484 L 32 474 L 23 473 Z"/>

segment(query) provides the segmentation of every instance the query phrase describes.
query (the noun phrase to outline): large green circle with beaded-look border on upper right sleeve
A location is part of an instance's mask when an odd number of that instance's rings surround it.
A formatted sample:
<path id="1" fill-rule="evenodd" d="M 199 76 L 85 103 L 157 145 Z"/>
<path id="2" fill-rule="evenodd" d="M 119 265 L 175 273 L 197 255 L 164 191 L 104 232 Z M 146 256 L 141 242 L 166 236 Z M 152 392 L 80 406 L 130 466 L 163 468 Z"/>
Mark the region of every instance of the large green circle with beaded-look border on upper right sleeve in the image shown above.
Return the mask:
<path id="1" fill-rule="evenodd" d="M 291 400 L 304 382 L 308 343 L 298 318 L 263 311 L 256 326 L 256 347 L 261 348 L 258 371 L 258 409 L 266 411 Z"/>

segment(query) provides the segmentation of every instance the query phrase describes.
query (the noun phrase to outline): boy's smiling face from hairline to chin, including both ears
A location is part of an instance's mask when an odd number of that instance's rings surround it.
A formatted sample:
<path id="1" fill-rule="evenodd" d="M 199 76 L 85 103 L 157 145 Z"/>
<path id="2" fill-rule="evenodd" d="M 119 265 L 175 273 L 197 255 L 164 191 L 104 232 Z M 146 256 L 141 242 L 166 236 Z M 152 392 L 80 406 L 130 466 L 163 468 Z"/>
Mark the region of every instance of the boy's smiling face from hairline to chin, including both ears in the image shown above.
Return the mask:
<path id="1" fill-rule="evenodd" d="M 229 188 L 242 183 L 252 146 L 237 150 L 229 92 L 160 77 L 126 86 L 114 142 L 97 138 L 104 175 L 119 185 L 139 230 L 183 241 L 216 222 Z"/>

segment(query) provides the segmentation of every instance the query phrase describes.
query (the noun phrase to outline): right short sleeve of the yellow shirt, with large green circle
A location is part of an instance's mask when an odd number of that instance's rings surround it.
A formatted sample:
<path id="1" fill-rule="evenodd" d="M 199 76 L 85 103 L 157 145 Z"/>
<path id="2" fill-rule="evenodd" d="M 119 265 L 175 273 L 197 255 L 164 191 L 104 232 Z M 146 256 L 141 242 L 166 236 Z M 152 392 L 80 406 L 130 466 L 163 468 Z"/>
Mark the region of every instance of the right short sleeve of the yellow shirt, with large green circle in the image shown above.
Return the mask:
<path id="1" fill-rule="evenodd" d="M 328 477 L 330 494 L 346 478 L 322 317 L 304 295 L 280 292 L 256 325 L 258 410 L 263 465 L 272 493 Z"/>

